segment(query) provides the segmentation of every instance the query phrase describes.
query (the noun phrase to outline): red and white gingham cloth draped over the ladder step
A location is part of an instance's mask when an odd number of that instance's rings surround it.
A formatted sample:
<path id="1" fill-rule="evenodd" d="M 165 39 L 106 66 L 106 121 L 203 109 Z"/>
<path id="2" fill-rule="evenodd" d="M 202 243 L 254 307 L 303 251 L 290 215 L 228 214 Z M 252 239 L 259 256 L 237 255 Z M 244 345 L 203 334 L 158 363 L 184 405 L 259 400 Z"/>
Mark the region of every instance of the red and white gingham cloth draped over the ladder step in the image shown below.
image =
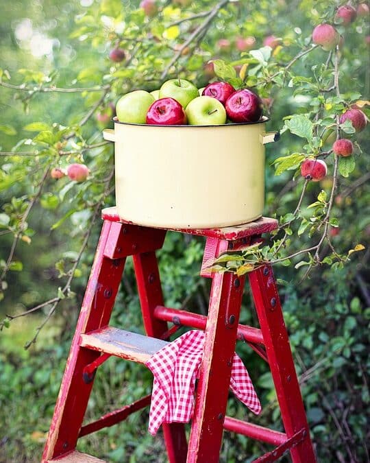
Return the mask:
<path id="1" fill-rule="evenodd" d="M 146 365 L 154 375 L 149 413 L 149 432 L 153 436 L 162 423 L 188 423 L 193 416 L 195 379 L 204 340 L 203 331 L 188 331 L 147 361 Z M 260 401 L 243 361 L 236 353 L 230 389 L 252 412 L 260 413 Z"/>

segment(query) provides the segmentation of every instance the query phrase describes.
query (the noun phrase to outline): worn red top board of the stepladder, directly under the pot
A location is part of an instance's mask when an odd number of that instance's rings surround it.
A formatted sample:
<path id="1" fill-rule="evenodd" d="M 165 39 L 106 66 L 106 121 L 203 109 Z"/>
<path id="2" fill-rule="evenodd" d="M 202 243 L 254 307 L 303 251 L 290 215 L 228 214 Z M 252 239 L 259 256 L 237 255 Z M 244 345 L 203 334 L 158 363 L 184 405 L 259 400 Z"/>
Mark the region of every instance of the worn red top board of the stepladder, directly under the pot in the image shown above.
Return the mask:
<path id="1" fill-rule="evenodd" d="M 101 216 L 104 220 L 110 222 L 121 222 L 123 224 L 132 224 L 124 218 L 119 217 L 116 207 L 108 207 L 103 209 Z M 269 233 L 276 230 L 277 220 L 269 217 L 261 217 L 249 224 L 241 224 L 235 226 L 226 226 L 223 228 L 167 228 L 167 230 L 178 231 L 181 233 L 189 233 L 190 235 L 197 235 L 201 237 L 212 237 L 219 239 L 234 240 L 251 235 L 261 235 L 262 233 Z"/>

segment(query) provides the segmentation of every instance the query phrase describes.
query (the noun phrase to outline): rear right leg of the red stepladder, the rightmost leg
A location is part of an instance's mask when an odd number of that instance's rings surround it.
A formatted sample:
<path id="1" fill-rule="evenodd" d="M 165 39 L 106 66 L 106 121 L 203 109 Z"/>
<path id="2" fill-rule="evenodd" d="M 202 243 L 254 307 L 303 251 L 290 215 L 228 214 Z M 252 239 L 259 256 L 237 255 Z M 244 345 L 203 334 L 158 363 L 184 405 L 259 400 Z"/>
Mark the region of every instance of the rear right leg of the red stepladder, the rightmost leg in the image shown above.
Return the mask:
<path id="1" fill-rule="evenodd" d="M 310 440 L 310 430 L 271 265 L 264 265 L 251 272 L 249 283 L 286 436 L 292 438 L 299 431 L 303 436 L 302 440 L 291 448 L 293 462 L 314 463 L 316 459 Z"/>

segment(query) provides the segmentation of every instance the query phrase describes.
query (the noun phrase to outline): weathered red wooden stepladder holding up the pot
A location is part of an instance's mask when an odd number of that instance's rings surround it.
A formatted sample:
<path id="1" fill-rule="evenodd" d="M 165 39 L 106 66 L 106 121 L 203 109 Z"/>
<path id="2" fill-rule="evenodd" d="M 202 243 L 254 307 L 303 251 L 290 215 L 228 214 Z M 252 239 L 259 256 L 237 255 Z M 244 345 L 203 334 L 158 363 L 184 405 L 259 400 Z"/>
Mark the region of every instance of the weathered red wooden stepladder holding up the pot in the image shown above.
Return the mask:
<path id="1" fill-rule="evenodd" d="M 227 249 L 240 249 L 262 233 L 277 228 L 275 219 L 262 217 L 240 226 L 176 230 L 206 237 L 201 275 L 212 278 L 208 316 L 164 307 L 156 250 L 164 242 L 163 228 L 126 223 L 115 208 L 103 210 L 103 228 L 86 294 L 62 379 L 42 462 L 102 462 L 76 450 L 77 440 L 112 426 L 150 404 L 151 397 L 125 405 L 83 425 L 95 372 L 111 355 L 144 364 L 167 344 L 168 323 L 204 329 L 206 340 L 195 411 L 188 442 L 184 425 L 162 425 L 170 463 L 219 462 L 223 430 L 267 442 L 273 450 L 255 462 L 273 462 L 290 451 L 294 463 L 315 462 L 282 307 L 270 265 L 249 274 L 251 296 L 260 328 L 238 323 L 245 276 L 211 274 L 206 263 Z M 111 327 L 110 316 L 121 283 L 125 259 L 132 256 L 147 336 Z M 247 342 L 269 363 L 285 432 L 225 416 L 236 340 Z M 247 455 L 246 457 L 247 458 Z"/>

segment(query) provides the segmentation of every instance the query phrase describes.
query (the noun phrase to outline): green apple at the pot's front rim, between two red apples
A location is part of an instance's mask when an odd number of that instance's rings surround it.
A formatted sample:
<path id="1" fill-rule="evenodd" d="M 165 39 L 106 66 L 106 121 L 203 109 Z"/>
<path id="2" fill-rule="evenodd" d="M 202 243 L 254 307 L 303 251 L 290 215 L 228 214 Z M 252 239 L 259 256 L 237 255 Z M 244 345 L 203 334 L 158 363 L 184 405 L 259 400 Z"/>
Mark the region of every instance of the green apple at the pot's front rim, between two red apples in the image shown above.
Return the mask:
<path id="1" fill-rule="evenodd" d="M 193 99 L 186 107 L 190 126 L 221 126 L 226 122 L 226 110 L 218 99 L 204 96 Z"/>

